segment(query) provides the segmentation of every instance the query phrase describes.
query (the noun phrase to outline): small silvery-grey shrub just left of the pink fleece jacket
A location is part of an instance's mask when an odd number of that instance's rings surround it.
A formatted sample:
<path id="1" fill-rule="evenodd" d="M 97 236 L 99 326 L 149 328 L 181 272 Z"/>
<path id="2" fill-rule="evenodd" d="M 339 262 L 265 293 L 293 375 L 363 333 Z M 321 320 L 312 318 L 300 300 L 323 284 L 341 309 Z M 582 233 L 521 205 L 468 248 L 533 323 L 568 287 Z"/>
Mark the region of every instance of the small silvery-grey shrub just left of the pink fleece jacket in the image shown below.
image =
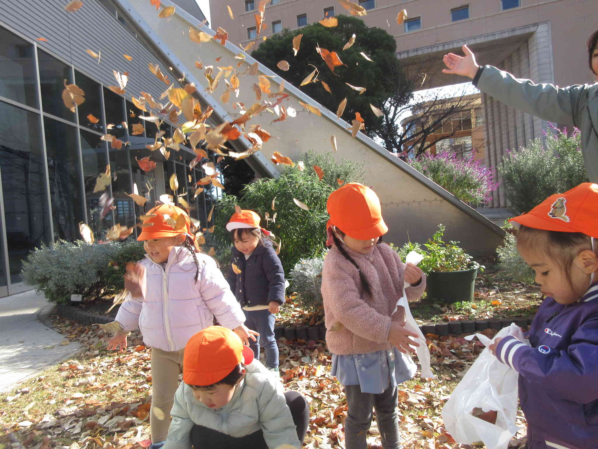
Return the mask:
<path id="1" fill-rule="evenodd" d="M 322 303 L 322 268 L 328 250 L 312 259 L 300 259 L 290 272 L 293 291 L 297 293 L 297 302 L 303 310 L 316 312 Z"/>

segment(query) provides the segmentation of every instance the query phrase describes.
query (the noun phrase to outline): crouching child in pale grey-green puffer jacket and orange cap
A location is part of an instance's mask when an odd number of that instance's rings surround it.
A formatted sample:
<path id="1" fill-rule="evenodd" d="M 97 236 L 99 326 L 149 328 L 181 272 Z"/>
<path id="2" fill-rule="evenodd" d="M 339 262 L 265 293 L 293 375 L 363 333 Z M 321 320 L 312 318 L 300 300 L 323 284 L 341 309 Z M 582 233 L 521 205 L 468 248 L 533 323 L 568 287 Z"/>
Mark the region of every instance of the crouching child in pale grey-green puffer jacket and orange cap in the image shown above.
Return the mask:
<path id="1" fill-rule="evenodd" d="M 224 327 L 211 326 L 191 337 L 163 449 L 301 447 L 307 401 L 297 392 L 283 392 L 253 359 L 252 350 Z"/>

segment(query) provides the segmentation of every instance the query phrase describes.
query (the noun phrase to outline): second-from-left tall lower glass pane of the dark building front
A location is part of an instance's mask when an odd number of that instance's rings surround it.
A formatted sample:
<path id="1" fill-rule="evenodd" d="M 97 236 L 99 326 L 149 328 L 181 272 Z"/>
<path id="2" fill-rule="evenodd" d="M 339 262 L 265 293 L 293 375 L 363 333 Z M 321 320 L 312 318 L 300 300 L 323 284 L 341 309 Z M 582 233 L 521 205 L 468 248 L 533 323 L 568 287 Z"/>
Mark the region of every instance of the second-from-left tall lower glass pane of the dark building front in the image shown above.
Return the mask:
<path id="1" fill-rule="evenodd" d="M 77 129 L 44 117 L 44 131 L 54 239 L 74 241 L 85 220 Z"/>

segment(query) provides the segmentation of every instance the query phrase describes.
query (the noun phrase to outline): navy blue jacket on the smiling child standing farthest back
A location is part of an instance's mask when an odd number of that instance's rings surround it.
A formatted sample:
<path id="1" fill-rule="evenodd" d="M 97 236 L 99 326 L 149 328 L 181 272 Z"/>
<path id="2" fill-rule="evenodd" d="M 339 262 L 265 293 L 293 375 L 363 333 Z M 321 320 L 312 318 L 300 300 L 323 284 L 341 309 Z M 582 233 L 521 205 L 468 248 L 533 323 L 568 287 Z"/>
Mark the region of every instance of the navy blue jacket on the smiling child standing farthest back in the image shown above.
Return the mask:
<path id="1" fill-rule="evenodd" d="M 272 242 L 262 239 L 263 245 L 255 247 L 249 259 L 245 254 L 231 248 L 231 266 L 228 269 L 228 284 L 241 307 L 268 305 L 271 301 L 279 304 L 285 302 L 285 271 L 278 258 Z M 233 264 L 241 272 L 235 274 Z"/>

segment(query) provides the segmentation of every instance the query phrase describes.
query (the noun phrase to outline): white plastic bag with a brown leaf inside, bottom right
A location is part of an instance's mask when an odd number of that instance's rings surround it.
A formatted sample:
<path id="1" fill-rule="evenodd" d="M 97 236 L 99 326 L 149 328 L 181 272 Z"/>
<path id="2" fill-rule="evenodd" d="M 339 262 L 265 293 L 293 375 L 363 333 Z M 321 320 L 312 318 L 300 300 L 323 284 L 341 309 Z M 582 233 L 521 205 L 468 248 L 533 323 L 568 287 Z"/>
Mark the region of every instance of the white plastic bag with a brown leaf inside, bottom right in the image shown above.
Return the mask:
<path id="1" fill-rule="evenodd" d="M 508 335 L 529 345 L 514 323 L 501 329 L 495 339 Z M 494 341 L 481 333 L 465 338 L 471 340 L 474 336 L 486 347 Z M 488 348 L 484 349 L 443 407 L 444 425 L 455 441 L 462 444 L 483 441 L 488 449 L 507 449 L 518 430 L 515 424 L 518 377 L 517 371 L 499 362 Z M 496 410 L 496 423 L 472 415 L 476 407 L 484 412 Z"/>

